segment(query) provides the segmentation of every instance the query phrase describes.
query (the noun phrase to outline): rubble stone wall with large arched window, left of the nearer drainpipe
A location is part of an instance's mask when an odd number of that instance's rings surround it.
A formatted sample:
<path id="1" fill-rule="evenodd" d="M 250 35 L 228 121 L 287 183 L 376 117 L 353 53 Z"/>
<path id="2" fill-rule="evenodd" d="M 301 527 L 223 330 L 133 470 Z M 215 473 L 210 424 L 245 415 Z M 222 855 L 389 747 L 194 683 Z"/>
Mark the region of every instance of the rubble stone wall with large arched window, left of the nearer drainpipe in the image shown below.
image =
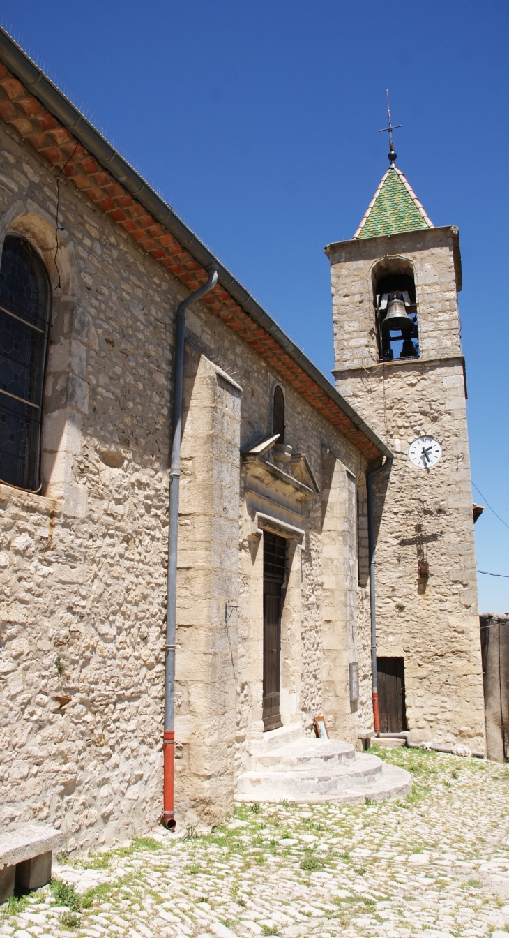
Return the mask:
<path id="1" fill-rule="evenodd" d="M 72 849 L 129 836 L 160 812 L 183 291 L 64 179 L 57 270 L 54 176 L 0 132 L 3 233 L 30 237 L 54 288 L 42 494 L 1 488 L 0 811 L 3 825 L 49 820 Z"/>

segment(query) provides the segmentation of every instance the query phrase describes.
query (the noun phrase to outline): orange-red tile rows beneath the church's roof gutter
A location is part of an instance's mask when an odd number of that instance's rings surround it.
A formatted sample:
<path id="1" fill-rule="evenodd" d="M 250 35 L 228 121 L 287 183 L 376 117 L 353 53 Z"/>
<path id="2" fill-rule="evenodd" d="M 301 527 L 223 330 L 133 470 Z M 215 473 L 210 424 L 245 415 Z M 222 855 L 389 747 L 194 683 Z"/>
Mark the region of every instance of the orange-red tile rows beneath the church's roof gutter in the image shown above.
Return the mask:
<path id="1" fill-rule="evenodd" d="M 115 224 L 173 277 L 195 290 L 207 280 L 207 273 L 188 251 L 159 222 L 152 218 L 126 189 L 112 178 L 37 98 L 0 62 L 0 117 L 15 127 L 22 139 L 53 167 L 63 170 L 67 179 L 87 195 Z M 229 325 L 250 348 L 265 358 L 337 430 L 367 457 L 380 456 L 378 449 L 355 427 L 337 404 L 282 349 L 277 340 L 247 315 L 232 296 L 217 284 L 203 302 Z"/>

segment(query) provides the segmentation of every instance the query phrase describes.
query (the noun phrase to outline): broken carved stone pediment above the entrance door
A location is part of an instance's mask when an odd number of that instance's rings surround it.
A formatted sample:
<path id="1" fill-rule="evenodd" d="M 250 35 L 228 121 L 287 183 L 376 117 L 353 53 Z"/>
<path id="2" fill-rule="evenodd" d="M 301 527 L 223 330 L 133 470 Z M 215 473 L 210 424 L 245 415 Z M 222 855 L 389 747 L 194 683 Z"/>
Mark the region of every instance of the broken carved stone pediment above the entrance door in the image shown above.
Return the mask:
<path id="1" fill-rule="evenodd" d="M 305 502 L 320 492 L 304 453 L 294 453 L 292 446 L 277 444 L 279 434 L 269 436 L 241 454 L 247 474 L 277 492 Z"/>

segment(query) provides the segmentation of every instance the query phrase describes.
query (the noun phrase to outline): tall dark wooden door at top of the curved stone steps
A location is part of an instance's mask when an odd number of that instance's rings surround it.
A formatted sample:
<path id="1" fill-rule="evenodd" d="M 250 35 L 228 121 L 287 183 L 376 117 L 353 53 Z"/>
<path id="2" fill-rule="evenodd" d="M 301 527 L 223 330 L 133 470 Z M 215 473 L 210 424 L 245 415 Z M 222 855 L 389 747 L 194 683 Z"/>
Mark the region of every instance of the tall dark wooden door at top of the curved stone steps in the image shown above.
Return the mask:
<path id="1" fill-rule="evenodd" d="M 279 713 L 281 606 L 286 576 L 284 537 L 263 534 L 263 710 L 265 730 L 282 726 Z"/>

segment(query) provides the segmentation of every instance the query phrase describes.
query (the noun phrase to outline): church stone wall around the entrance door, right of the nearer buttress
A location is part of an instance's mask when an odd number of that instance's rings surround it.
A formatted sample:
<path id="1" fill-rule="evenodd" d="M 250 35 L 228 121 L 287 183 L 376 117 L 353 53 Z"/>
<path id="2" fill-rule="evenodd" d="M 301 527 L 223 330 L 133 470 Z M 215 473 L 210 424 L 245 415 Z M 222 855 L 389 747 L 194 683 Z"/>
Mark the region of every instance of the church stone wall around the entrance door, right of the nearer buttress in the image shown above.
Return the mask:
<path id="1" fill-rule="evenodd" d="M 289 548 L 289 582 L 281 623 L 283 721 L 303 719 L 310 733 L 312 719 L 323 712 L 334 735 L 355 742 L 358 727 L 372 726 L 366 578 L 359 590 L 360 619 L 356 588 L 354 480 L 361 477 L 361 537 L 366 552 L 366 460 L 217 319 L 201 309 L 193 310 L 187 316 L 187 330 L 203 355 L 242 386 L 241 451 L 272 433 L 271 395 L 275 383 L 283 387 L 285 441 L 306 453 L 321 490 L 302 507 L 277 498 L 274 492 L 262 496 L 261 489 L 256 498 L 262 501 L 257 502 L 247 492 L 246 473 L 241 469 L 236 771 L 246 768 L 250 736 L 262 732 L 262 532 L 256 534 L 256 525 L 253 529 L 257 510 L 272 512 L 305 532 L 302 546 Z M 335 479 L 332 492 L 331 477 Z M 270 510 L 264 498 L 272 499 Z M 333 586 L 336 583 L 334 594 L 325 585 L 326 576 L 332 577 Z M 326 633 L 328 648 L 324 647 Z M 355 656 L 363 661 L 363 680 L 358 711 L 352 712 L 349 662 Z M 335 699 L 336 693 L 341 695 L 340 701 Z"/>

